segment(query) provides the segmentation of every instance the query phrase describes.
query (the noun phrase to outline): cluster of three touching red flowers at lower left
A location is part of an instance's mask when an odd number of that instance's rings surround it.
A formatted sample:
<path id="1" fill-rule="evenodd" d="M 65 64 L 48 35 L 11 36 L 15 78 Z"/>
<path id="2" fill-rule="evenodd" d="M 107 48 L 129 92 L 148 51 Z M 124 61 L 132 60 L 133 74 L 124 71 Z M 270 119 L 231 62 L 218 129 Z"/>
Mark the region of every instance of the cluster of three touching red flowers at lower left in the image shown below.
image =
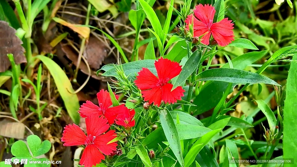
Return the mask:
<path id="1" fill-rule="evenodd" d="M 119 96 L 116 95 L 116 98 L 119 99 Z M 97 99 L 99 106 L 91 101 L 86 101 L 78 111 L 80 116 L 86 118 L 87 135 L 78 125 L 69 124 L 64 128 L 61 138 L 61 141 L 65 142 L 64 146 L 86 146 L 79 162 L 85 167 L 99 164 L 101 160 L 105 159 L 104 155 L 111 155 L 117 150 L 116 142 L 108 144 L 116 138 L 114 130 L 107 131 L 110 124 L 116 123 L 125 128 L 135 125 L 134 109 L 129 110 L 124 104 L 110 107 L 112 105 L 110 94 L 103 89 L 97 93 Z"/>

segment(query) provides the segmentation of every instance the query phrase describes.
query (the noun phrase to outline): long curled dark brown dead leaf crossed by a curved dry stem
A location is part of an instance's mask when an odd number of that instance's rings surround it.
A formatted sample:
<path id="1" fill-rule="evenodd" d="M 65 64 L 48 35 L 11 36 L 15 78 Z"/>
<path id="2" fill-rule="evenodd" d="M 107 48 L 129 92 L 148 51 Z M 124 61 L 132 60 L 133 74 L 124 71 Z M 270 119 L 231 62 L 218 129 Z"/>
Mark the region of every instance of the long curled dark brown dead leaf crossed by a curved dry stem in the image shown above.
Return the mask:
<path id="1" fill-rule="evenodd" d="M 60 43 L 60 45 L 61 45 L 62 51 L 68 57 L 68 59 L 70 59 L 73 62 L 73 64 L 75 66 L 77 66 L 78 55 L 75 54 L 68 45 L 65 45 L 65 44 L 62 44 L 62 43 Z M 87 75 L 89 74 L 88 67 L 87 67 L 86 63 L 83 60 L 81 60 L 79 68 L 83 73 L 85 73 Z M 98 80 L 108 81 L 108 77 L 97 76 L 97 73 L 95 71 L 93 71 L 93 70 L 91 70 L 91 77 L 95 78 L 95 79 L 98 79 Z"/>

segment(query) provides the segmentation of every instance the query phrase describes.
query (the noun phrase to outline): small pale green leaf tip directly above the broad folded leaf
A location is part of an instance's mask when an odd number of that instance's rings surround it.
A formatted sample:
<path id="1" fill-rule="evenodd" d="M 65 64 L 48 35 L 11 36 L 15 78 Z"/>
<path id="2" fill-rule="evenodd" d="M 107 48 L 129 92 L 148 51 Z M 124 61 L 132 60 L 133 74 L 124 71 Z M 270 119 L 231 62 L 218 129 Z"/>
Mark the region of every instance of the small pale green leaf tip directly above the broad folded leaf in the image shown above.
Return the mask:
<path id="1" fill-rule="evenodd" d="M 172 115 L 173 119 L 177 118 L 177 114 L 179 116 L 179 121 L 181 124 L 191 124 L 191 125 L 198 125 L 198 126 L 204 126 L 199 119 L 196 117 L 182 112 L 182 111 L 170 111 L 170 114 Z"/>

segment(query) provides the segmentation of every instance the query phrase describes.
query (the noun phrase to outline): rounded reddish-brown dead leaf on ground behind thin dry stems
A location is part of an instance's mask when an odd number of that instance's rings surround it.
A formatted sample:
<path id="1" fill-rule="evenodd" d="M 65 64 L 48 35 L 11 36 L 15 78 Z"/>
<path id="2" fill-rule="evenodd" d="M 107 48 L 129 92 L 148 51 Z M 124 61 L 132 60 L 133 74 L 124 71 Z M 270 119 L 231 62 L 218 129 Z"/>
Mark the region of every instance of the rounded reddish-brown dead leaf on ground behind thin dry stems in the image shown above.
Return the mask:
<path id="1" fill-rule="evenodd" d="M 108 48 L 95 36 L 90 36 L 83 56 L 88 60 L 90 68 L 99 70 L 102 62 L 108 56 Z"/>

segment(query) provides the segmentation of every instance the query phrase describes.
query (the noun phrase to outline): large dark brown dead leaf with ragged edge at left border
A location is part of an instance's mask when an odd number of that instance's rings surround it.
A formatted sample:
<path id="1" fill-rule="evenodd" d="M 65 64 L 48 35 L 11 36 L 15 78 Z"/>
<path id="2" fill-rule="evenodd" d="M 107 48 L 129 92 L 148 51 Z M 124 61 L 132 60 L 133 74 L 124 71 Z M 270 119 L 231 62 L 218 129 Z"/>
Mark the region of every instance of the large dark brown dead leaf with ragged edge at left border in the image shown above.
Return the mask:
<path id="1" fill-rule="evenodd" d="M 16 30 L 5 21 L 0 21 L 0 72 L 8 70 L 11 63 L 7 54 L 12 53 L 15 64 L 26 63 L 23 42 L 16 35 Z"/>

